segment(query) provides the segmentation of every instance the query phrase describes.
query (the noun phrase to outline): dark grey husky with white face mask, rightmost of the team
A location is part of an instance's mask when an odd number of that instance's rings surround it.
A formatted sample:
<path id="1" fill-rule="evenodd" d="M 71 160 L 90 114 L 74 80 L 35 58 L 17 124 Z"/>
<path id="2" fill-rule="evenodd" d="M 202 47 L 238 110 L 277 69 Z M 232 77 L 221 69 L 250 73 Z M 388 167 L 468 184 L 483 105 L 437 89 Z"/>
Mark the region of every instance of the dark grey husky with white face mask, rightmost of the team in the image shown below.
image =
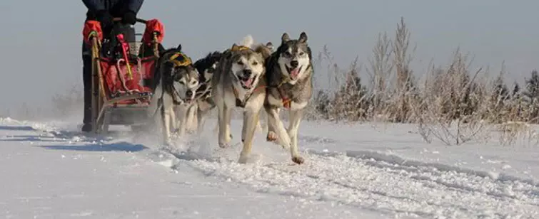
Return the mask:
<path id="1" fill-rule="evenodd" d="M 288 33 L 281 36 L 281 46 L 266 61 L 266 102 L 268 114 L 268 141 L 279 139 L 283 147 L 290 147 L 292 161 L 303 164 L 298 152 L 298 128 L 303 110 L 313 94 L 312 53 L 307 43 L 307 34 L 302 32 L 298 39 Z M 281 108 L 290 110 L 288 130 L 279 118 Z M 287 132 L 288 131 L 288 132 Z"/>

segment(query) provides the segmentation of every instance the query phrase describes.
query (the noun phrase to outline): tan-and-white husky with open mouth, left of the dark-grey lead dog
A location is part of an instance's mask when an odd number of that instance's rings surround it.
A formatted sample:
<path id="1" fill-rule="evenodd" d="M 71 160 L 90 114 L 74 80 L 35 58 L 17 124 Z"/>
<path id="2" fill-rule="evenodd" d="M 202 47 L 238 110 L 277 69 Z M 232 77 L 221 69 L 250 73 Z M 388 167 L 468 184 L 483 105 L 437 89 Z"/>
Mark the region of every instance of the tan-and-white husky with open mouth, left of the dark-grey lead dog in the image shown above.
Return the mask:
<path id="1" fill-rule="evenodd" d="M 231 141 L 231 110 L 243 108 L 243 129 L 238 162 L 246 163 L 251 154 L 253 135 L 258 121 L 258 113 L 266 97 L 266 58 L 271 53 L 261 45 L 251 48 L 253 38 L 247 36 L 243 43 L 225 50 L 219 60 L 216 73 L 211 79 L 211 96 L 218 109 L 218 144 L 221 148 Z"/>

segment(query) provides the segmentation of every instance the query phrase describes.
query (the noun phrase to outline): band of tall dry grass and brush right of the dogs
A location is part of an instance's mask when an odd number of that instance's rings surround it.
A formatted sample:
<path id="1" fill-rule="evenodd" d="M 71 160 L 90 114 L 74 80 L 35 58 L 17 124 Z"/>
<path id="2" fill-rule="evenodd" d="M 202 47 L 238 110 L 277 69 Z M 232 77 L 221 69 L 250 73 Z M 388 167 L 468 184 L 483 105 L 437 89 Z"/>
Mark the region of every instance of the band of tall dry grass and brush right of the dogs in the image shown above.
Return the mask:
<path id="1" fill-rule="evenodd" d="M 316 90 L 311 114 L 334 122 L 414 123 L 425 141 L 438 139 L 447 145 L 485 140 L 493 124 L 514 127 L 538 120 L 539 74 L 527 80 L 527 92 L 518 84 L 509 89 L 503 82 L 505 68 L 495 78 L 488 69 L 470 69 L 470 58 L 458 48 L 447 65 L 430 65 L 423 80 L 416 80 L 410 69 L 410 36 L 403 19 L 394 38 L 378 35 L 366 68 L 369 80 L 359 77 L 357 60 L 342 71 L 324 48 L 318 58 L 328 61 L 333 89 Z M 536 136 L 531 129 L 503 130 L 501 144 Z"/>

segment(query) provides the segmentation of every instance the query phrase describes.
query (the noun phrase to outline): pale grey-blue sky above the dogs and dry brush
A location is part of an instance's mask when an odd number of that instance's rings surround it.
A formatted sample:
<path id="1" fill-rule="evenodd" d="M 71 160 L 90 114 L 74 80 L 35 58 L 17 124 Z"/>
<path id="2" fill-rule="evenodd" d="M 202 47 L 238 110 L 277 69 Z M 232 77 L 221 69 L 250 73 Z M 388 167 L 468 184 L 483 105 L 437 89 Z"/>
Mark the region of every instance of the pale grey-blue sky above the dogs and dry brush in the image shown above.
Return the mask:
<path id="1" fill-rule="evenodd" d="M 139 16 L 161 19 L 165 46 L 182 43 L 193 59 L 223 50 L 248 33 L 257 42 L 278 44 L 283 31 L 294 38 L 306 31 L 314 53 L 327 44 L 343 66 L 356 55 L 366 63 L 378 33 L 393 36 L 404 16 L 417 44 L 415 66 L 426 67 L 431 59 L 443 65 L 460 46 L 475 55 L 476 65 L 498 70 L 505 60 L 512 77 L 521 78 L 539 68 L 538 9 L 537 0 L 147 0 Z M 85 12 L 82 1 L 75 0 L 0 1 L 0 108 L 47 104 L 72 85 L 82 89 Z"/>

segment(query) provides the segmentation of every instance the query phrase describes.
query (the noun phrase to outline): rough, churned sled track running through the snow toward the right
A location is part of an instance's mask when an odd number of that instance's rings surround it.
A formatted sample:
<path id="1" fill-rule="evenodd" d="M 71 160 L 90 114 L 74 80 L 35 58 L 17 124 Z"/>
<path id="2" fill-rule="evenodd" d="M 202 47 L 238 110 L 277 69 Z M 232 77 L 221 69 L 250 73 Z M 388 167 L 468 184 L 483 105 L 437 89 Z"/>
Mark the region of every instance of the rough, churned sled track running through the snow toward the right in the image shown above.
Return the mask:
<path id="1" fill-rule="evenodd" d="M 539 218 L 539 188 L 526 181 L 346 153 L 305 154 L 306 164 L 301 166 L 288 160 L 237 164 L 235 159 L 171 153 L 180 159 L 174 169 L 188 166 L 206 176 L 299 201 L 331 201 L 418 218 Z"/>

